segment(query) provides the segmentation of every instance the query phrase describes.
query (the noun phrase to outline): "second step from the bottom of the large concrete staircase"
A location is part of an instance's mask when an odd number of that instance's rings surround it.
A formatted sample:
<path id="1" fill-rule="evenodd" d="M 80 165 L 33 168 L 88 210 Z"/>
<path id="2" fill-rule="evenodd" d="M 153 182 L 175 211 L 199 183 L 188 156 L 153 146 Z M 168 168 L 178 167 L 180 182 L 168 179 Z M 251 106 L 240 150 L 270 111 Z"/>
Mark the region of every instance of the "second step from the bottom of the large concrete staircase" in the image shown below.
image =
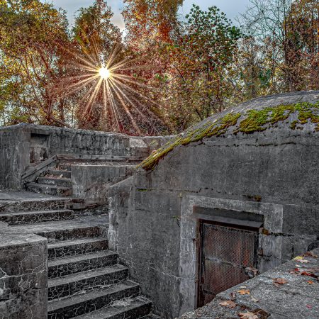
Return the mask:
<path id="1" fill-rule="evenodd" d="M 138 284 L 133 281 L 121 281 L 121 283 L 109 288 L 96 289 L 84 294 L 49 301 L 47 318 L 74 318 L 77 315 L 109 306 L 113 301 L 138 296 L 139 293 L 140 286 Z"/>

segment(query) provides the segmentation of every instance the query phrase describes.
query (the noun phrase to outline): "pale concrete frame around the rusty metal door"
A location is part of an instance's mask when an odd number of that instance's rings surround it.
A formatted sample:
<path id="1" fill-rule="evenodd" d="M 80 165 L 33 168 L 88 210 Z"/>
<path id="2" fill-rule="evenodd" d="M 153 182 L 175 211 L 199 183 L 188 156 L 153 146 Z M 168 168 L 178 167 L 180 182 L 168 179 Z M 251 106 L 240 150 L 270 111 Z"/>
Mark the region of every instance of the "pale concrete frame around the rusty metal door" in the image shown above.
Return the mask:
<path id="1" fill-rule="evenodd" d="M 220 208 L 236 211 L 238 216 L 248 212 L 262 216 L 264 228 L 271 233 L 282 233 L 284 206 L 275 203 L 240 201 L 233 198 L 213 198 L 186 195 L 181 197 L 180 242 L 179 242 L 179 315 L 196 309 L 197 301 L 197 245 L 198 219 L 195 208 Z M 205 219 L 215 218 L 214 213 L 206 214 Z M 201 218 L 203 219 L 203 218 Z M 267 235 L 259 234 L 258 250 L 267 250 L 272 259 L 263 259 L 261 272 L 281 264 L 281 236 L 272 238 L 274 245 L 267 245 Z M 266 246 L 265 246 L 266 245 Z"/>

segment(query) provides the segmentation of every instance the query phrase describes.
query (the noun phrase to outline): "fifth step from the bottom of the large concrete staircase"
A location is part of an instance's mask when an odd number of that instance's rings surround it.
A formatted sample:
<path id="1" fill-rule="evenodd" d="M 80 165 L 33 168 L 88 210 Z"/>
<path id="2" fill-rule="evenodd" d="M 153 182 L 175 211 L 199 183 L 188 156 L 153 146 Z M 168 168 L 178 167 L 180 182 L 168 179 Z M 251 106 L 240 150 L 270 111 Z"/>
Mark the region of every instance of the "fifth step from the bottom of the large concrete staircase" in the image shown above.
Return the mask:
<path id="1" fill-rule="evenodd" d="M 108 249 L 108 241 L 103 237 L 79 238 L 77 240 L 65 240 L 53 242 L 47 245 L 49 260 L 60 259 L 68 256 L 77 256 L 91 252 L 99 252 Z"/>

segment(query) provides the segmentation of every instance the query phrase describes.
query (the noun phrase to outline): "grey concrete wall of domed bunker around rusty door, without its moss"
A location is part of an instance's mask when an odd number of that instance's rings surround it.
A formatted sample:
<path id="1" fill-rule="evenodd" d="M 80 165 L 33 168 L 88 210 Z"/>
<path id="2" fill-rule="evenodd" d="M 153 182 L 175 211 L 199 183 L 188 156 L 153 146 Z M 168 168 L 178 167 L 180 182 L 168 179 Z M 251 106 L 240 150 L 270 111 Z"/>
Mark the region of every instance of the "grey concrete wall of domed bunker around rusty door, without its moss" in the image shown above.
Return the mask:
<path id="1" fill-rule="evenodd" d="M 235 111 L 318 99 L 319 92 L 272 96 Z M 185 198 L 213 198 L 213 203 L 220 198 L 238 216 L 242 207 L 253 213 L 261 213 L 263 205 L 280 207 L 269 220 L 280 213 L 281 231 L 264 228 L 259 235 L 260 272 L 290 260 L 317 240 L 319 133 L 311 123 L 303 130 L 289 125 L 176 147 L 154 170 L 141 169 L 119 190 L 113 187 L 110 243 L 164 318 L 194 309 L 197 278 L 187 262 L 194 268 L 198 238 L 191 228 L 183 233 Z M 233 206 L 237 202 L 239 206 Z M 186 221 L 193 224 L 194 218 Z"/>

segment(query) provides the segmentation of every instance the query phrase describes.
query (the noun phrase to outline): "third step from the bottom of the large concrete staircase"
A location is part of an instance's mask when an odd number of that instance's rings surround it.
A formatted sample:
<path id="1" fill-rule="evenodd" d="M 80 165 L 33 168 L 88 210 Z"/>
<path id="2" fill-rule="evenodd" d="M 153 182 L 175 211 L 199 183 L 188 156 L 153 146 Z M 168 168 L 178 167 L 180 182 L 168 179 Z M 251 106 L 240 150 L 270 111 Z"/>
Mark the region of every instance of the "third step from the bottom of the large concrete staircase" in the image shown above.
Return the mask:
<path id="1" fill-rule="evenodd" d="M 128 279 L 128 268 L 115 264 L 48 280 L 48 300 L 86 293 Z"/>

